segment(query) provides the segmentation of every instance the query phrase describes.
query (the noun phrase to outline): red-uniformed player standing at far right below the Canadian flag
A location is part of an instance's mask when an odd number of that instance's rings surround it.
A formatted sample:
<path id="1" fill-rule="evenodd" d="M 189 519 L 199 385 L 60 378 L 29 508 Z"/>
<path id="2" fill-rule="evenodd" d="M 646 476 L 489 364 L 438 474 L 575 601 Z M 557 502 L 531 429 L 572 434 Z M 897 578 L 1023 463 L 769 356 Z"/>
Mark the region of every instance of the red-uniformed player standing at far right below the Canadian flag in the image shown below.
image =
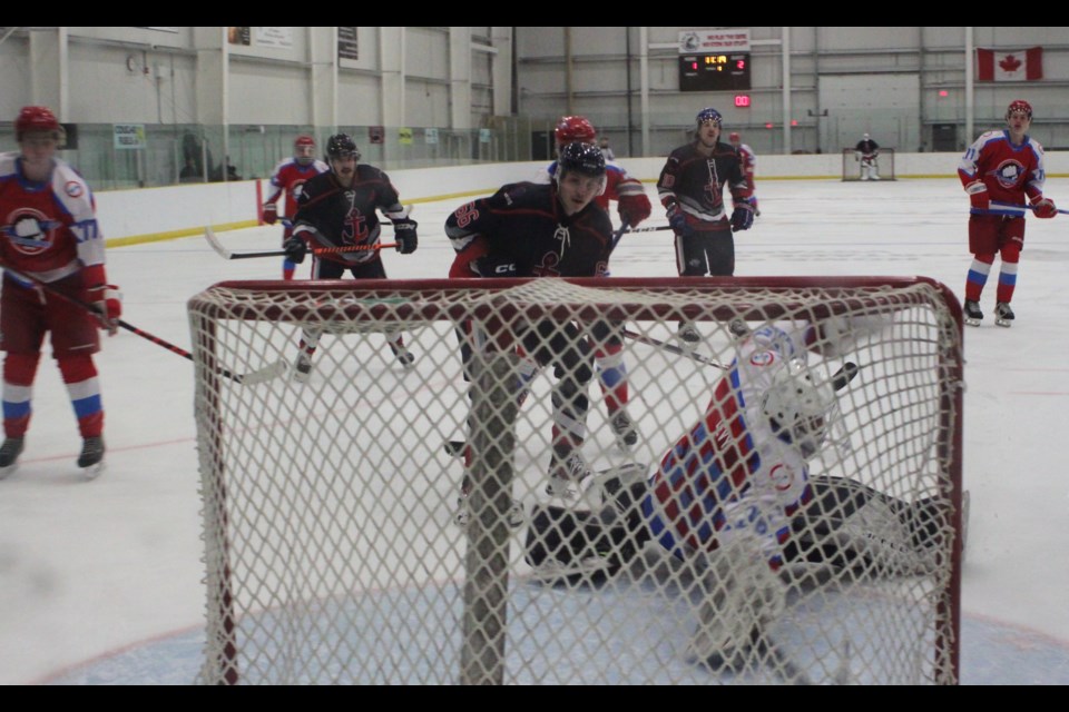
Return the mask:
<path id="1" fill-rule="evenodd" d="M 980 326 L 983 312 L 980 295 L 988 283 L 996 254 L 1001 258 L 996 288 L 994 323 L 1010 326 L 1010 301 L 1017 287 L 1017 269 L 1024 248 L 1026 201 L 1038 218 L 1058 214 L 1053 201 L 1043 197 L 1047 179 L 1043 147 L 1028 136 L 1032 107 L 1017 100 L 1006 110 L 1007 128 L 981 134 L 958 165 L 958 177 L 969 194 L 969 251 L 972 265 L 965 278 L 965 323 Z M 992 202 L 1021 206 L 1019 209 Z"/>

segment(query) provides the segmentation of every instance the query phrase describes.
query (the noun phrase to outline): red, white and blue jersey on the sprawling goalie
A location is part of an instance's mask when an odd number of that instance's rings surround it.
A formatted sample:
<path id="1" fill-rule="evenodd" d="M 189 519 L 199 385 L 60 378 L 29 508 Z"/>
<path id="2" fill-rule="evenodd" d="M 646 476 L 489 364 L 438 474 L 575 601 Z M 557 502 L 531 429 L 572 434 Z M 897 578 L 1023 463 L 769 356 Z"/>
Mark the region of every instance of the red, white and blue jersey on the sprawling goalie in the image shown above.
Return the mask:
<path id="1" fill-rule="evenodd" d="M 714 386 L 705 416 L 650 477 L 643 513 L 673 554 L 712 551 L 749 531 L 771 566 L 783 563 L 791 516 L 812 491 L 805 459 L 775 436 L 761 397 L 788 360 L 805 358 L 803 334 L 767 325 L 754 332 Z"/>

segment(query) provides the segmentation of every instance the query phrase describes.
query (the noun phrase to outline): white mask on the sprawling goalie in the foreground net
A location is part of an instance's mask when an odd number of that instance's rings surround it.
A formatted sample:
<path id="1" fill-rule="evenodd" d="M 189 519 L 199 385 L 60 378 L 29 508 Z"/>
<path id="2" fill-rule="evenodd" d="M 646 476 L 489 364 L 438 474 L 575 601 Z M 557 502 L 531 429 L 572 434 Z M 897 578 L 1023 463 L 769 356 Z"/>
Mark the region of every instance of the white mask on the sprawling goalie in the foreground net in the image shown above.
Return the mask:
<path id="1" fill-rule="evenodd" d="M 773 377 L 761 409 L 773 434 L 808 459 L 824 446 L 837 403 L 831 384 L 816 378 L 803 362 L 791 359 Z"/>

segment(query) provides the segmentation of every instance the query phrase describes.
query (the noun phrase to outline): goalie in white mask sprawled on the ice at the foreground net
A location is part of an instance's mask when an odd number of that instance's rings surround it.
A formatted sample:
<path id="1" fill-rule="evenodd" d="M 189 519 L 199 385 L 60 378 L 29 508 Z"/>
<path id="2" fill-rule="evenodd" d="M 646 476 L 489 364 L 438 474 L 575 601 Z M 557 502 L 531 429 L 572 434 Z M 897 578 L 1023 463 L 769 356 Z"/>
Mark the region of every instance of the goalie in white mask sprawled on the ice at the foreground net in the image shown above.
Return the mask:
<path id="1" fill-rule="evenodd" d="M 536 507 L 526 540 L 536 575 L 597 582 L 639 563 L 648 544 L 699 586 L 689 655 L 734 669 L 765 644 L 788 584 L 803 576 L 931 571 L 950 517 L 942 500 L 906 504 L 808 472 L 822 449 L 847 446 L 838 397 L 860 369 L 845 362 L 832 374 L 807 354 L 840 357 L 880 328 L 833 317 L 739 339 L 704 416 L 651 473 L 639 465 L 605 476 L 595 485 L 600 511 Z"/>

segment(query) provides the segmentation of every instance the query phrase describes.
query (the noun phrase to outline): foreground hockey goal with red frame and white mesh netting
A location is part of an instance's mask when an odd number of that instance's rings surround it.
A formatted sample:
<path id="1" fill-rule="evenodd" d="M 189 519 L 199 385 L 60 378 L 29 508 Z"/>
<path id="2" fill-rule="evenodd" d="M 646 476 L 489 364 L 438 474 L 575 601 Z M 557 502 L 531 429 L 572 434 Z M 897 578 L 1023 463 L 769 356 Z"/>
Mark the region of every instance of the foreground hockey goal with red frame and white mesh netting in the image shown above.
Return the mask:
<path id="1" fill-rule="evenodd" d="M 188 308 L 206 565 L 199 683 L 958 681 L 962 327 L 934 280 L 228 281 Z M 635 510 L 620 510 L 608 483 L 640 491 L 702 419 L 734 358 L 735 318 L 840 325 L 850 350 L 806 368 L 860 369 L 836 394 L 834 436 L 808 461 L 810 481 L 879 492 L 910 516 L 870 507 L 836 528 L 844 512 L 817 507 L 792 521 L 792 537 L 816 545 L 774 575 L 745 548 L 677 557 L 619 536 Z M 627 330 L 640 438 L 630 451 L 617 442 L 592 375 L 581 452 L 600 484 L 549 501 L 567 374 L 541 368 L 523 398 L 524 360 L 507 345 L 523 325 L 551 323 L 573 327 L 546 334 L 558 352 L 579 348 L 598 319 Z M 693 348 L 677 340 L 681 320 L 700 332 Z M 475 352 L 470 380 L 463 325 L 492 345 Z M 278 365 L 304 329 L 322 338 L 298 383 Z M 395 334 L 415 356 L 409 368 L 388 348 Z M 467 465 L 444 447 L 458 439 Z M 561 522 L 612 535 L 577 544 L 573 531 L 546 527 L 551 504 Z M 847 528 L 846 543 L 835 538 Z"/>

